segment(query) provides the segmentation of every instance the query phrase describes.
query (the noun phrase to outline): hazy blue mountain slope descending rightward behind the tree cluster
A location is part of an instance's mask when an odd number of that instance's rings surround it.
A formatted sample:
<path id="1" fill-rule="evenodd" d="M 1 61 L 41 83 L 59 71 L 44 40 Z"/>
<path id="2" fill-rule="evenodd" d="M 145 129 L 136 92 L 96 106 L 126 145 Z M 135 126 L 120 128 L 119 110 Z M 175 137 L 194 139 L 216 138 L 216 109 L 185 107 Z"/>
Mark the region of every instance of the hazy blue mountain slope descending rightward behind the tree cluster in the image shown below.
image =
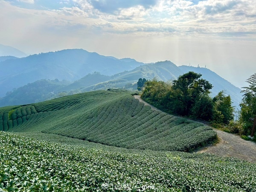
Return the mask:
<path id="1" fill-rule="evenodd" d="M 195 73 L 201 73 L 203 79 L 207 79 L 212 85 L 213 88 L 211 89 L 211 95 L 216 96 L 218 92 L 221 90 L 224 90 L 227 95 L 231 96 L 233 105 L 236 108 L 240 108 L 239 104 L 242 100 L 242 93 L 241 89 L 231 84 L 226 79 L 223 79 L 221 76 L 218 76 L 218 74 L 214 73 L 213 71 L 202 68 L 202 67 L 192 67 L 192 66 L 179 66 L 179 69 L 183 71 L 183 73 L 188 73 L 189 71 L 193 71 Z"/>

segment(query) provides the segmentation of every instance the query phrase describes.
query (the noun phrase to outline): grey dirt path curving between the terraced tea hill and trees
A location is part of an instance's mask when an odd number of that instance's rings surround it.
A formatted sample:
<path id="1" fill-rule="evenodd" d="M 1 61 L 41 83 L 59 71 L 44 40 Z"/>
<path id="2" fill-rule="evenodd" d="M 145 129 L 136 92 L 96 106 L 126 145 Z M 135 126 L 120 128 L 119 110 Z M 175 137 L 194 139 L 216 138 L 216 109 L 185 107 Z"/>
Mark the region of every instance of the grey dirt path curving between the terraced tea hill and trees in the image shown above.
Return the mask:
<path id="1" fill-rule="evenodd" d="M 135 99 L 139 99 L 145 105 L 151 106 L 152 109 L 161 111 L 154 106 L 143 101 L 140 96 L 135 95 Z M 207 147 L 201 148 L 195 152 L 197 153 L 213 153 L 218 154 L 222 157 L 237 157 L 243 160 L 247 160 L 256 163 L 256 143 L 252 141 L 246 141 L 241 139 L 241 137 L 229 134 L 218 129 L 214 129 L 217 132 L 219 142 L 215 145 L 209 145 Z"/>

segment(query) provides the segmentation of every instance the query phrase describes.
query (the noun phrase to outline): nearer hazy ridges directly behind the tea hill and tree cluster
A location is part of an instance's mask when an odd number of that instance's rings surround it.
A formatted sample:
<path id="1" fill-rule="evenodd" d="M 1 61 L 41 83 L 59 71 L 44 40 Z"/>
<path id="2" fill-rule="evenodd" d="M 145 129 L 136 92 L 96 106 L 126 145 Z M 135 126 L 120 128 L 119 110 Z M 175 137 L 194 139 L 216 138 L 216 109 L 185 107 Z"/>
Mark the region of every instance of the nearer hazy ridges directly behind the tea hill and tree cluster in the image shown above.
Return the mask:
<path id="1" fill-rule="evenodd" d="M 112 59 L 112 61 L 125 60 L 122 62 L 137 62 L 130 58 L 117 59 L 104 56 L 103 58 Z M 111 70 L 111 67 L 109 67 L 108 70 Z M 140 65 L 133 70 L 123 71 L 122 73 L 116 73 L 112 76 L 103 75 L 99 72 L 89 73 L 81 79 L 73 82 L 59 81 L 58 79 L 42 79 L 19 87 L 13 91 L 9 91 L 5 97 L 0 99 L 0 106 L 24 105 L 59 96 L 92 90 L 106 90 L 108 88 L 136 90 L 137 81 L 140 78 L 156 78 L 161 81 L 173 81 L 174 79 L 177 79 L 178 76 L 189 71 L 201 73 L 202 78 L 207 79 L 212 83 L 212 96 L 217 95 L 221 90 L 225 90 L 225 93 L 231 96 L 233 105 L 236 106 L 236 108 L 239 108 L 242 95 L 240 93 L 241 90 L 238 87 L 235 87 L 233 84 L 221 78 L 209 69 L 189 66 L 177 67 L 171 61 L 160 61 L 155 64 Z"/>

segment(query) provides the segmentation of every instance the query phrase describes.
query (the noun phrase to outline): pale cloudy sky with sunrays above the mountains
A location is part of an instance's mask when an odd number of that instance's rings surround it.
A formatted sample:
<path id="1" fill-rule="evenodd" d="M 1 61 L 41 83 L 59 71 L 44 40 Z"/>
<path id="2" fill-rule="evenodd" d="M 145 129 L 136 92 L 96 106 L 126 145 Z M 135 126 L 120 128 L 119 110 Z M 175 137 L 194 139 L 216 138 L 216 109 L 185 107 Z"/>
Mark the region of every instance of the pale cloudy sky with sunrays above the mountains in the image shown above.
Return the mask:
<path id="1" fill-rule="evenodd" d="M 256 73 L 256 0 L 0 0 L 0 44 L 169 60 L 244 87 Z"/>

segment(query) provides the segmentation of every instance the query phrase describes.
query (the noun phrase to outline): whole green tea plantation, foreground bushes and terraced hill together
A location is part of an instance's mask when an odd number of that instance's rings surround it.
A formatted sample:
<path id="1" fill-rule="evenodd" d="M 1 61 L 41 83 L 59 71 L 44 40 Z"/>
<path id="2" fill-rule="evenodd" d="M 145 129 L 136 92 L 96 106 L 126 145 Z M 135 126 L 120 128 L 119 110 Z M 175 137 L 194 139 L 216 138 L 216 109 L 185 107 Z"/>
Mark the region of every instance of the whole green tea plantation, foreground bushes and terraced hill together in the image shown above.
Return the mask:
<path id="1" fill-rule="evenodd" d="M 255 164 L 184 152 L 215 138 L 128 91 L 0 108 L 0 192 L 256 191 Z"/>

